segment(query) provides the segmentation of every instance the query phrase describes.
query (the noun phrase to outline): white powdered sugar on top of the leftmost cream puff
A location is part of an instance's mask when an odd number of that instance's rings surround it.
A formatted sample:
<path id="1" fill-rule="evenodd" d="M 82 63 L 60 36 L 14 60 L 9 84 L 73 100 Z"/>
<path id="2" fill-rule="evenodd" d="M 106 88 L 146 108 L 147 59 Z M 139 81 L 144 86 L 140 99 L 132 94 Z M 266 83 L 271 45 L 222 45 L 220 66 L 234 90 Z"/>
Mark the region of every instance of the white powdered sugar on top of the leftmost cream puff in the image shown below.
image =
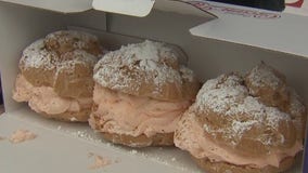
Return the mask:
<path id="1" fill-rule="evenodd" d="M 50 34 L 46 37 L 52 38 L 56 37 L 57 41 L 65 41 L 65 37 L 62 38 L 57 36 L 64 31 L 57 31 Z M 66 31 L 72 39 L 78 38 L 80 42 L 87 42 L 90 40 L 97 40 L 94 36 L 79 32 L 79 31 Z M 57 54 L 55 51 L 48 50 L 46 48 L 46 39 L 40 39 L 31 43 L 23 51 L 23 55 L 20 64 L 22 65 L 22 70 L 27 68 L 43 68 L 43 69 L 55 69 L 55 75 L 57 75 L 63 69 L 74 71 L 77 64 L 93 67 L 98 62 L 98 57 L 82 50 L 86 45 L 78 45 L 75 50 L 66 52 L 63 54 Z M 85 41 L 86 40 L 86 41 Z"/>

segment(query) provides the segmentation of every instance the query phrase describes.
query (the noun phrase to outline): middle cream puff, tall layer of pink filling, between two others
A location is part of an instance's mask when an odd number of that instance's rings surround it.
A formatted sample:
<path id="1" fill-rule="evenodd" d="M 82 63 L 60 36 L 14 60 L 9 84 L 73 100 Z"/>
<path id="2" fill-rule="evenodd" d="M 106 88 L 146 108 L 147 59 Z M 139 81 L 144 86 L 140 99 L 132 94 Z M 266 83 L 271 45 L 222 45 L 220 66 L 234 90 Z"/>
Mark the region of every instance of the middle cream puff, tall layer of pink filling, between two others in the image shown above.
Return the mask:
<path id="1" fill-rule="evenodd" d="M 174 131 L 198 90 L 193 71 L 164 43 L 110 52 L 94 67 L 92 129 L 131 147 L 174 145 Z"/>

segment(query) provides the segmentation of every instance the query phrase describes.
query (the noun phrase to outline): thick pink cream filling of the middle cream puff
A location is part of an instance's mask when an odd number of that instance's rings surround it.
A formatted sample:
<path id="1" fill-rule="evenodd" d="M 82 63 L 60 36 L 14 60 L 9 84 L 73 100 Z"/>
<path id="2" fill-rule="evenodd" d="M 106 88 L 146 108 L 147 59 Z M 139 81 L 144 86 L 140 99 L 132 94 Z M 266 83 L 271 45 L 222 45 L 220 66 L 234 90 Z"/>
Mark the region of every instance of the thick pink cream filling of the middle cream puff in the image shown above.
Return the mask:
<path id="1" fill-rule="evenodd" d="M 100 131 L 139 136 L 156 133 L 172 133 L 190 102 L 163 102 L 115 92 L 98 84 L 93 101 L 98 105 L 95 115 L 101 116 Z"/>

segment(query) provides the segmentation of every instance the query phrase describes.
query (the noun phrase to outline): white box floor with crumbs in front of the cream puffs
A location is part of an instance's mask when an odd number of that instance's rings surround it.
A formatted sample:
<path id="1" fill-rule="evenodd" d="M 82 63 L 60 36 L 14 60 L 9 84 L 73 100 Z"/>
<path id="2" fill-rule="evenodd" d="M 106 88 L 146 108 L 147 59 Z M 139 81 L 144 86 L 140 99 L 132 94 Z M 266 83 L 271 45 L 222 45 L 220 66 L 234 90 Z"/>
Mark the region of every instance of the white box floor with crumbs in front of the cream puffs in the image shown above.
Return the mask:
<path id="1" fill-rule="evenodd" d="M 23 107 L 0 116 L 0 136 L 9 137 L 16 130 L 29 130 L 37 138 L 20 144 L 0 141 L 0 168 L 3 173 L 181 173 L 202 172 L 190 156 L 175 147 L 149 147 L 133 149 L 116 146 L 101 139 L 100 134 L 87 123 L 66 123 L 42 118 Z M 98 170 L 89 170 L 94 163 L 93 152 L 112 161 L 118 161 Z M 290 173 L 300 172 L 300 158 Z"/>

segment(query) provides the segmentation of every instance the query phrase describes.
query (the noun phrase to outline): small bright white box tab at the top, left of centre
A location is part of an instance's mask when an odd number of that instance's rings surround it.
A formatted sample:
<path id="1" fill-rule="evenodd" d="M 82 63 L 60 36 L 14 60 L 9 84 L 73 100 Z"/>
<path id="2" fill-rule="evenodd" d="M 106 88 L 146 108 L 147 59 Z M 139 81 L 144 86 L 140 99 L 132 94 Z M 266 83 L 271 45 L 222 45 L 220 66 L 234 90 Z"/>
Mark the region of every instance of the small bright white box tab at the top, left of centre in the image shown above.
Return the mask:
<path id="1" fill-rule="evenodd" d="M 155 0 L 93 0 L 93 8 L 104 12 L 143 17 L 146 16 Z"/>

